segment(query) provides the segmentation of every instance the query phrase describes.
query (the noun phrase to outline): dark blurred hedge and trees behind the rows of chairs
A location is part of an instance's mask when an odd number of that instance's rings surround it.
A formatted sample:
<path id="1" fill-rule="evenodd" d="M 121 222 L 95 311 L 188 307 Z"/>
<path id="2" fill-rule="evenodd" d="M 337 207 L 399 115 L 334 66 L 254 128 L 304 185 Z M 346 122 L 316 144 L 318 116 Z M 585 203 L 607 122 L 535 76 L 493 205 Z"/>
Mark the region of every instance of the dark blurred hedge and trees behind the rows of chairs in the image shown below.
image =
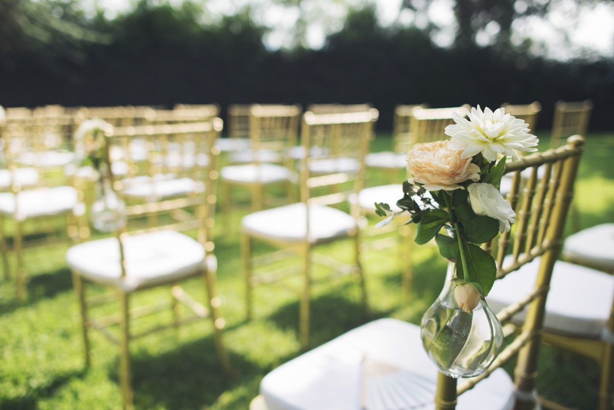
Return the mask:
<path id="1" fill-rule="evenodd" d="M 262 42 L 265 28 L 247 11 L 203 25 L 196 18 L 202 10 L 190 2 L 173 8 L 141 1 L 114 20 L 86 19 L 75 4 L 0 0 L 0 105 L 218 103 L 225 110 L 230 103 L 370 102 L 381 112 L 379 129 L 387 130 L 399 103 L 540 101 L 537 128 L 546 129 L 555 101 L 591 98 L 590 128 L 612 127 L 608 59 L 560 63 L 473 43 L 443 49 L 426 31 L 379 27 L 373 7 L 351 12 L 321 50 L 271 52 Z M 36 16 L 49 7 L 74 30 L 56 29 L 57 19 L 45 26 Z M 24 15 L 46 37 L 33 34 Z"/>

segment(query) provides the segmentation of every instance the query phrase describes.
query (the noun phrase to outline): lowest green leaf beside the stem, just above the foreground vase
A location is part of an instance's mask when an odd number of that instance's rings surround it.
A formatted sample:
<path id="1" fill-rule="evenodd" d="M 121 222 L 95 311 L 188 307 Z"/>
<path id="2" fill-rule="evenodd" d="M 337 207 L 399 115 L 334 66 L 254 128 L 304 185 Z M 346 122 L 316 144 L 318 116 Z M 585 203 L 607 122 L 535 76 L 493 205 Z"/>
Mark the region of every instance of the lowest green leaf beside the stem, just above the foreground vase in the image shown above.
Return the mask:
<path id="1" fill-rule="evenodd" d="M 467 262 L 467 279 L 468 282 L 476 282 L 480 284 L 483 295 L 488 295 L 495 282 L 497 276 L 497 265 L 491 254 L 481 249 L 474 244 L 463 242 L 465 261 Z M 456 260 L 456 276 L 465 277 L 461 262 L 461 254 L 459 252 Z"/>

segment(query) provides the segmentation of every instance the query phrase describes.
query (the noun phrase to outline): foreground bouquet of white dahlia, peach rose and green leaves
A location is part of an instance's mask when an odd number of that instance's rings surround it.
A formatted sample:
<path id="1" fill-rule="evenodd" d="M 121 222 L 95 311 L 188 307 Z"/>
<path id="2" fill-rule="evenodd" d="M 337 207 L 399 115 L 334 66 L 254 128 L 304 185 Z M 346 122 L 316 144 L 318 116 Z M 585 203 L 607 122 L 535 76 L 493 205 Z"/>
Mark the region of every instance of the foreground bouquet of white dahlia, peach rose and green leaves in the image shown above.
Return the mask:
<path id="1" fill-rule="evenodd" d="M 447 141 L 418 144 L 407 153 L 409 178 L 403 183 L 401 209 L 376 203 L 378 215 L 409 212 L 416 223 L 416 243 L 435 238 L 441 255 L 456 261 L 454 298 L 465 312 L 472 312 L 488 295 L 497 267 L 490 253 L 479 246 L 510 231 L 515 212 L 499 192 L 507 157 L 516 152 L 537 151 L 537 137 L 527 124 L 503 108 L 472 108 L 468 119 L 454 114 Z M 497 158 L 500 158 L 497 161 Z M 440 234 L 442 228 L 448 235 Z"/>

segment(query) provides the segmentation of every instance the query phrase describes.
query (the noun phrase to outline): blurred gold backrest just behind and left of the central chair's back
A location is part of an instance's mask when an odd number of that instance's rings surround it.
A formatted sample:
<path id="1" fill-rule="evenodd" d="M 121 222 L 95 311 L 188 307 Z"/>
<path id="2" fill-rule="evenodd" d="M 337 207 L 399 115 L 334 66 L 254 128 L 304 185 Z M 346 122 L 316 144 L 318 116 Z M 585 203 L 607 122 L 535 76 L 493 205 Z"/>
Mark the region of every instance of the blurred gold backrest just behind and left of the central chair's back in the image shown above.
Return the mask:
<path id="1" fill-rule="evenodd" d="M 249 109 L 249 137 L 254 163 L 279 162 L 293 168 L 288 155 L 290 147 L 297 144 L 301 107 L 295 105 L 254 104 Z M 267 152 L 266 159 L 258 152 Z M 278 160 L 273 160 L 276 157 Z"/>

